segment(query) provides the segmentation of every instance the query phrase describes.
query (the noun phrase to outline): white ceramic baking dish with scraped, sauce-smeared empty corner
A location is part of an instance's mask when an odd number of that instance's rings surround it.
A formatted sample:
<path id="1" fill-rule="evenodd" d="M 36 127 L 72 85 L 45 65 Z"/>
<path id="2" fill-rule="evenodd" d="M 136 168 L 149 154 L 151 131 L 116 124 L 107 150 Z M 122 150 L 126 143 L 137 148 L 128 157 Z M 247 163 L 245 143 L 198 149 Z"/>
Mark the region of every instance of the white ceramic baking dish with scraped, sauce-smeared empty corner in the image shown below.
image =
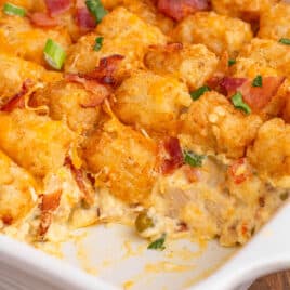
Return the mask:
<path id="1" fill-rule="evenodd" d="M 241 250 L 235 252 L 211 242 L 200 254 L 196 253 L 197 245 L 185 240 L 169 243 L 164 252 L 148 251 L 145 241 L 122 226 L 88 229 L 88 238 L 78 247 L 82 254 L 80 260 L 76 259 L 76 247 L 71 243 L 64 248 L 65 261 L 62 261 L 0 236 L 0 289 L 109 290 L 122 289 L 128 280 L 135 284 L 131 288 L 128 282 L 127 289 L 139 290 L 246 289 L 251 280 L 263 274 L 290 267 L 289 221 L 290 206 L 287 205 Z M 129 239 L 132 242 L 129 243 Z M 184 247 L 189 250 L 184 251 Z M 132 248 L 131 255 L 124 248 Z M 143 250 L 136 251 L 137 248 Z M 223 262 L 208 278 L 194 284 L 202 273 L 209 274 Z M 91 271 L 97 267 L 98 276 L 85 274 L 79 268 L 81 264 Z"/>

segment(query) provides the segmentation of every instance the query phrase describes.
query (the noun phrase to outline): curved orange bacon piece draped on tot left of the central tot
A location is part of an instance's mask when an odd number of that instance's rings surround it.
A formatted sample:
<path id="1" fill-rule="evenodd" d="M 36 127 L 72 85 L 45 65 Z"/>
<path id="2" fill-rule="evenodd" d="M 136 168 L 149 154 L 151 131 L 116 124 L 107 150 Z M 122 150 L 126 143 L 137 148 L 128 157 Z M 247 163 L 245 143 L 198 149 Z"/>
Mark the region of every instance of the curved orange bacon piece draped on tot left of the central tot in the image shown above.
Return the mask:
<path id="1" fill-rule="evenodd" d="M 66 74 L 65 80 L 67 82 L 76 82 L 83 85 L 83 88 L 91 92 L 90 101 L 85 104 L 81 104 L 83 108 L 92 108 L 101 105 L 103 101 L 110 95 L 110 89 L 102 85 L 96 80 L 88 80 L 84 77 L 79 76 L 78 74 Z"/>

